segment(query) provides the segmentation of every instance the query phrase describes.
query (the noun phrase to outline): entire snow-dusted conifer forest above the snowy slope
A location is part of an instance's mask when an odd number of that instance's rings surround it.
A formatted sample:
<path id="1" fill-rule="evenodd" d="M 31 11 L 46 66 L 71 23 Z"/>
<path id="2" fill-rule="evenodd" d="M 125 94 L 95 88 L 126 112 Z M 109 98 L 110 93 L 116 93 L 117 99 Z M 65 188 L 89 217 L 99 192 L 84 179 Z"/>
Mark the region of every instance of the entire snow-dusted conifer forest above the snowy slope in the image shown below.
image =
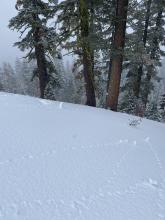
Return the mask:
<path id="1" fill-rule="evenodd" d="M 165 121 L 164 0 L 18 0 L 1 90 Z M 74 57 L 64 68 L 63 51 Z"/>

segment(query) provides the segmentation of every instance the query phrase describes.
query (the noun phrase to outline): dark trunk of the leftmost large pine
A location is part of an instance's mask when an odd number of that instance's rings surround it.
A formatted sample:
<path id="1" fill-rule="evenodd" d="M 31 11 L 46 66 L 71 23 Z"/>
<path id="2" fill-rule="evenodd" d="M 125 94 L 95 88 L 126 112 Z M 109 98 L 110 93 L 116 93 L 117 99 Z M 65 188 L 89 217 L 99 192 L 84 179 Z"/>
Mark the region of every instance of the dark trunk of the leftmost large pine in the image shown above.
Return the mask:
<path id="1" fill-rule="evenodd" d="M 37 7 L 37 1 L 33 0 L 33 6 Z M 40 18 L 37 14 L 33 15 L 34 20 L 36 22 L 40 22 Z M 35 41 L 35 55 L 37 59 L 37 67 L 38 67 L 38 75 L 39 75 L 39 86 L 40 86 L 40 97 L 44 98 L 45 95 L 45 88 L 48 81 L 48 72 L 46 66 L 46 58 L 45 58 L 45 51 L 42 44 L 42 30 L 40 27 L 34 27 L 34 41 Z"/>

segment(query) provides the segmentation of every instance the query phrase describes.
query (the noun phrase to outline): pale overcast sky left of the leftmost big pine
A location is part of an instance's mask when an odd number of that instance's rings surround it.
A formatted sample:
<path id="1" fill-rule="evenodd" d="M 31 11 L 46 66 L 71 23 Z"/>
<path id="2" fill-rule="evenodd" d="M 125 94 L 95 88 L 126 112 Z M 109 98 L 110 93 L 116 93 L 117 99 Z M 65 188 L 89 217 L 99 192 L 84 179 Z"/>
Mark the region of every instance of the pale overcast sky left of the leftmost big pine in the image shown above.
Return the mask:
<path id="1" fill-rule="evenodd" d="M 0 63 L 3 61 L 14 62 L 16 57 L 21 57 L 21 52 L 13 47 L 18 40 L 18 33 L 8 29 L 8 22 L 11 17 L 16 15 L 16 0 L 2 0 L 0 7 Z"/>

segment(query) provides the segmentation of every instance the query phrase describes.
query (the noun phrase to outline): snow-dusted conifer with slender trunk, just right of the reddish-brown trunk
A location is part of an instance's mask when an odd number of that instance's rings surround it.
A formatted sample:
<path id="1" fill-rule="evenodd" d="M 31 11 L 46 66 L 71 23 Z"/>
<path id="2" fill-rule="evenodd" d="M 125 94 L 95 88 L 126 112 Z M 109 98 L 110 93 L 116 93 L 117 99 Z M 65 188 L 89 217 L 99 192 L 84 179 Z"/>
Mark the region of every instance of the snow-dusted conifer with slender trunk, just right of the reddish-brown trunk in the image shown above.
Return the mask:
<path id="1" fill-rule="evenodd" d="M 141 2 L 137 0 L 130 1 L 130 10 L 128 13 L 128 25 L 132 29 L 132 33 L 126 36 L 126 62 L 124 68 L 127 74 L 126 83 L 122 88 L 125 94 L 122 102 L 123 104 L 125 103 L 126 106 L 130 105 L 130 101 L 134 103 L 132 113 L 136 115 L 138 115 L 143 108 L 140 89 L 143 84 L 142 80 L 148 60 L 147 42 L 152 17 L 151 3 L 152 0 Z M 129 99 L 128 94 L 131 94 Z"/>

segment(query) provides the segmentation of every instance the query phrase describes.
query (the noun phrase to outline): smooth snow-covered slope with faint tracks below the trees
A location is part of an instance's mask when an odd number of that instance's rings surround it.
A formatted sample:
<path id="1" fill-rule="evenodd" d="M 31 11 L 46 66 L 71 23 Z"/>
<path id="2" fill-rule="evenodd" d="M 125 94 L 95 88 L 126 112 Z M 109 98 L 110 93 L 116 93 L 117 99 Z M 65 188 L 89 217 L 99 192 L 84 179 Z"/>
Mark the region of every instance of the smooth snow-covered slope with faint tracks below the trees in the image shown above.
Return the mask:
<path id="1" fill-rule="evenodd" d="M 165 125 L 0 94 L 0 219 L 165 219 Z"/>

